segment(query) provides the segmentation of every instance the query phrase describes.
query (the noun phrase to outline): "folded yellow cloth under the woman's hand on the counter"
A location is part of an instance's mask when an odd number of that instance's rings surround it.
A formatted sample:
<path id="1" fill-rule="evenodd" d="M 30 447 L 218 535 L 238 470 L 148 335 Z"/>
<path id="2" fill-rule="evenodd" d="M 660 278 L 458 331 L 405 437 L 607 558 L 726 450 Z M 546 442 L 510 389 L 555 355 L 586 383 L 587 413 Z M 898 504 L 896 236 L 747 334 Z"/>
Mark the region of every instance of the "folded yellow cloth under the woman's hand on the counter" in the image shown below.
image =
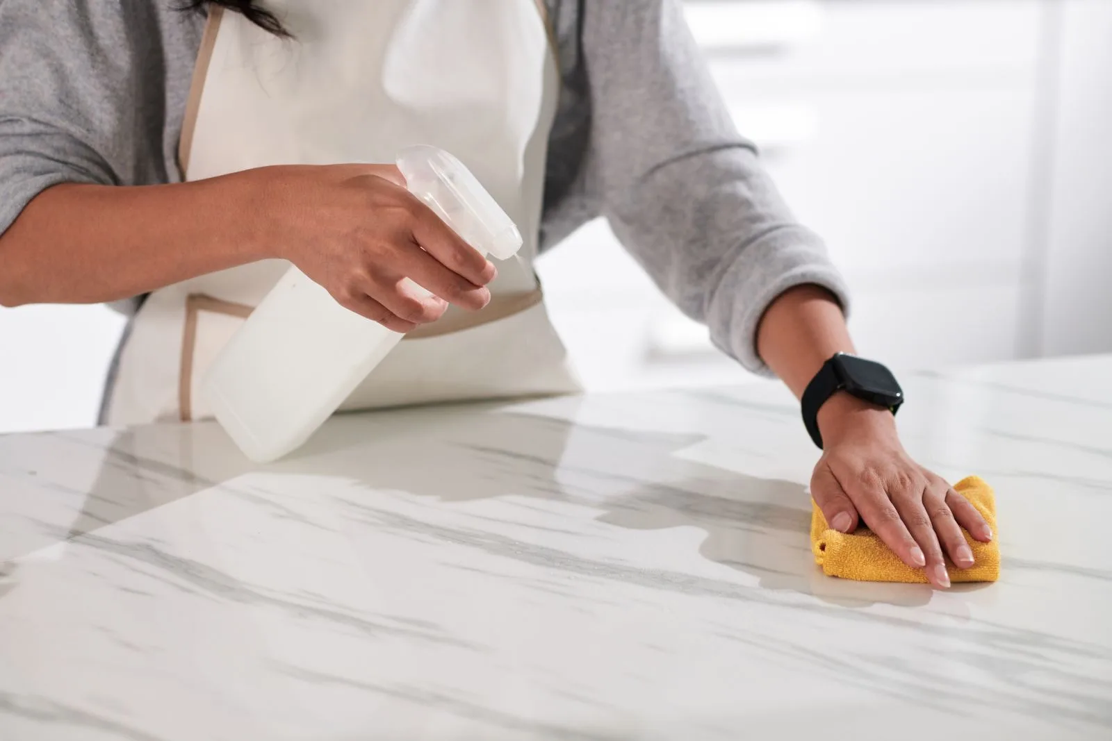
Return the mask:
<path id="1" fill-rule="evenodd" d="M 967 499 L 992 528 L 993 539 L 982 543 L 962 530 L 965 542 L 973 551 L 973 565 L 959 569 L 946 559 L 946 571 L 952 582 L 996 581 L 1000 577 L 1000 545 L 996 537 L 996 501 L 992 487 L 975 475 L 954 484 L 954 490 Z M 856 579 L 857 581 L 898 581 L 927 583 L 923 569 L 905 564 L 884 542 L 864 525 L 856 532 L 844 533 L 830 528 L 817 504 L 811 517 L 811 550 L 815 563 L 827 577 Z"/>

